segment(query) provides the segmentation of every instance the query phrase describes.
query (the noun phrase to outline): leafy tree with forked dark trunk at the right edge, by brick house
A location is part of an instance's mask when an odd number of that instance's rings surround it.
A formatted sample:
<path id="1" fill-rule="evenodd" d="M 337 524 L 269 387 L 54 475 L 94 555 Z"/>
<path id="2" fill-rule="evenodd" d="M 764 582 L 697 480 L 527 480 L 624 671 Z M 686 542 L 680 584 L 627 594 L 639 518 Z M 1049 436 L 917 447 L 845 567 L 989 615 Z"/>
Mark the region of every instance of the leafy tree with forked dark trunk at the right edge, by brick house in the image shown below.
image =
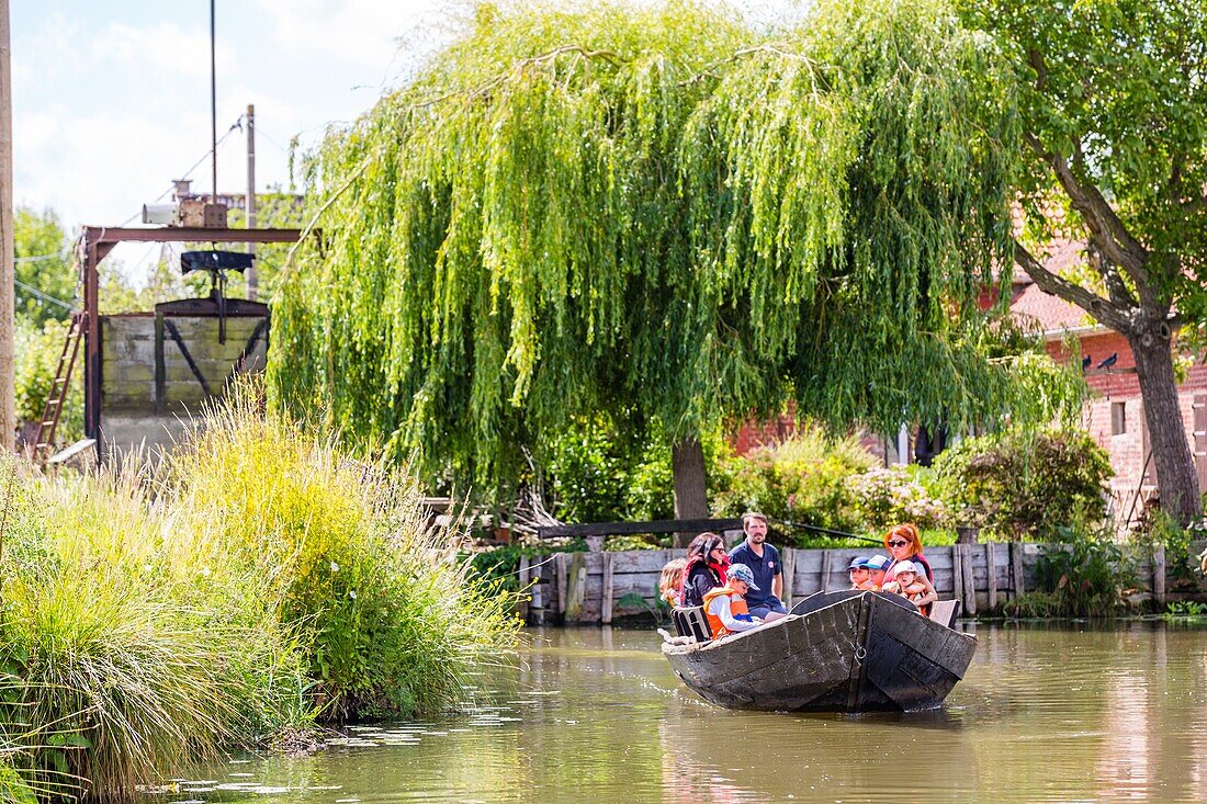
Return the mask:
<path id="1" fill-rule="evenodd" d="M 1019 266 L 1136 355 L 1161 506 L 1201 513 L 1172 351 L 1207 319 L 1207 4 L 963 0 L 1011 62 L 1027 234 Z M 1008 144 L 1009 146 L 1009 144 Z M 1028 249 L 1084 239 L 1088 279 Z M 1200 342 L 1201 343 L 1201 342 Z"/>

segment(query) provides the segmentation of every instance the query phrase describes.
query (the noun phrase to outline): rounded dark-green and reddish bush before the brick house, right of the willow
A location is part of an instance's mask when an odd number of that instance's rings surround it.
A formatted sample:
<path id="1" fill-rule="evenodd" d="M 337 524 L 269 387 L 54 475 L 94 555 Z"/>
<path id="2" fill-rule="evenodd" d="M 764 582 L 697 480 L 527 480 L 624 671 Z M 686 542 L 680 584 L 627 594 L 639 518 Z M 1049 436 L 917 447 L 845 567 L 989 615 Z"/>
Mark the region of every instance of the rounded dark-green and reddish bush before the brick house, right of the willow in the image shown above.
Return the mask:
<path id="1" fill-rule="evenodd" d="M 934 462 L 944 501 L 1001 538 L 1053 541 L 1060 528 L 1106 515 L 1106 450 L 1081 431 L 970 438 Z"/>

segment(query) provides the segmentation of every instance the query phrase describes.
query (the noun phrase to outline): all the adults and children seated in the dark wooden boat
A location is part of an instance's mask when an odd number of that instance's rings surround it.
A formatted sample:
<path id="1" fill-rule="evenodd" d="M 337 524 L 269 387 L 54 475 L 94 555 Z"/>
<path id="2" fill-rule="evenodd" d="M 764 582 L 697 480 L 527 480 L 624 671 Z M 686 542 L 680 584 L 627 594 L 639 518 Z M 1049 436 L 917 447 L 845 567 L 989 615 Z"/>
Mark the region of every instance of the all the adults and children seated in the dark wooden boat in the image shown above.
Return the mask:
<path id="1" fill-rule="evenodd" d="M 663 600 L 672 607 L 704 607 L 713 639 L 788 614 L 780 552 L 766 542 L 766 517 L 744 514 L 742 532 L 746 538 L 731 550 L 717 534 L 700 534 L 688 546 L 687 558 L 663 567 Z M 897 525 L 885 535 L 885 548 L 890 555 L 857 555 L 851 561 L 851 588 L 898 594 L 927 613 L 938 594 L 917 528 Z"/>

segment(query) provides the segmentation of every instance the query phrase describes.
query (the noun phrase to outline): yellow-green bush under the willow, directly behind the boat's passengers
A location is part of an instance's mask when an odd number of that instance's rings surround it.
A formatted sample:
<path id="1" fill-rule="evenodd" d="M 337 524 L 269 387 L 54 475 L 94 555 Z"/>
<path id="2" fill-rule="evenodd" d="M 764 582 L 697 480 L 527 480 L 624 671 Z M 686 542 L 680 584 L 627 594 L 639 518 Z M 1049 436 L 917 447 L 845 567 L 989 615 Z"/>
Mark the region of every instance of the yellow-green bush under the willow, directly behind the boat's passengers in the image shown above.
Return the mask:
<path id="1" fill-rule="evenodd" d="M 725 467 L 730 484 L 716 494 L 713 509 L 730 517 L 762 511 L 774 519 L 850 531 L 859 519 L 846 480 L 873 464 L 857 438 L 834 439 L 818 427 L 806 427 L 779 444 L 730 459 Z M 793 534 L 792 538 L 807 537 Z"/>

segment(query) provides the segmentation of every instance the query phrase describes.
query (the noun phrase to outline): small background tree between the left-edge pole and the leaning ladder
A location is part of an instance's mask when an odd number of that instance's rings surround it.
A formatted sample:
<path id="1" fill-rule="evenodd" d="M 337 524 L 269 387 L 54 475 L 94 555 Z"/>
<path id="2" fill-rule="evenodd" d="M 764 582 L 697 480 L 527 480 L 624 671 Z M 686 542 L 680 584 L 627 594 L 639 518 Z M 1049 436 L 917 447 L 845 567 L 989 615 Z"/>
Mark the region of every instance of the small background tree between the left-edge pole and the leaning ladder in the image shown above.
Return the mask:
<path id="1" fill-rule="evenodd" d="M 40 330 L 51 319 L 65 321 L 75 299 L 71 240 L 53 210 L 18 206 L 12 216 L 16 315 Z"/>

